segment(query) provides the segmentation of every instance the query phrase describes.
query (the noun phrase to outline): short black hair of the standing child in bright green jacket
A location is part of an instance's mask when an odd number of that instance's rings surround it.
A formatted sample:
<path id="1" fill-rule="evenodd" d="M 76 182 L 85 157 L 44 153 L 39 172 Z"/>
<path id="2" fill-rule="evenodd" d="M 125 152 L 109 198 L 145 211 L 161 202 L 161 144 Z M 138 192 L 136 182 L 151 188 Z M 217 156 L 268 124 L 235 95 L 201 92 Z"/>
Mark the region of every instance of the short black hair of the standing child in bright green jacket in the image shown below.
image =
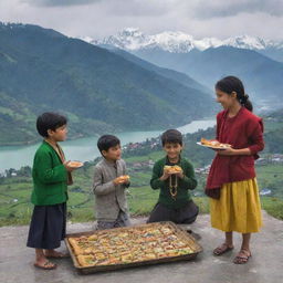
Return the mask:
<path id="1" fill-rule="evenodd" d="M 43 137 L 49 137 L 49 129 L 56 130 L 56 128 L 66 125 L 67 119 L 65 116 L 53 112 L 45 112 L 36 119 L 36 129 Z"/>

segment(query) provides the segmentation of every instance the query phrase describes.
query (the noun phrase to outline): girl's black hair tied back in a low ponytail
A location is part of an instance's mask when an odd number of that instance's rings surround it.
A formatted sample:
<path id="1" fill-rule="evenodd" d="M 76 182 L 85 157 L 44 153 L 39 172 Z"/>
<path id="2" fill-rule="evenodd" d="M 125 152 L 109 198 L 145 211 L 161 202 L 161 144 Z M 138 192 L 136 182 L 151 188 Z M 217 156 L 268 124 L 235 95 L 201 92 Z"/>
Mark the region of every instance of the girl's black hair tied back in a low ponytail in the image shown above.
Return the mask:
<path id="1" fill-rule="evenodd" d="M 216 88 L 227 94 L 235 92 L 237 99 L 240 102 L 240 104 L 243 105 L 248 111 L 252 112 L 253 107 L 251 101 L 249 99 L 249 95 L 244 93 L 243 83 L 237 76 L 230 75 L 223 77 L 217 82 Z"/>

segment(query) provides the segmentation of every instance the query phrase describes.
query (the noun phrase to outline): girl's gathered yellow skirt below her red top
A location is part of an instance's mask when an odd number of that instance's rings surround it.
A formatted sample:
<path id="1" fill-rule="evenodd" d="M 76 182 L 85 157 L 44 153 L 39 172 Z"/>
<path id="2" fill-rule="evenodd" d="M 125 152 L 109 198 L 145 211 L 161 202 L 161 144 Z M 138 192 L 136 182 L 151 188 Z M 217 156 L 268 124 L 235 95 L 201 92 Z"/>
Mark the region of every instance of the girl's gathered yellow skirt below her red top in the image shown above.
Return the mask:
<path id="1" fill-rule="evenodd" d="M 256 179 L 224 184 L 220 199 L 210 198 L 211 226 L 224 232 L 259 232 L 262 227 Z"/>

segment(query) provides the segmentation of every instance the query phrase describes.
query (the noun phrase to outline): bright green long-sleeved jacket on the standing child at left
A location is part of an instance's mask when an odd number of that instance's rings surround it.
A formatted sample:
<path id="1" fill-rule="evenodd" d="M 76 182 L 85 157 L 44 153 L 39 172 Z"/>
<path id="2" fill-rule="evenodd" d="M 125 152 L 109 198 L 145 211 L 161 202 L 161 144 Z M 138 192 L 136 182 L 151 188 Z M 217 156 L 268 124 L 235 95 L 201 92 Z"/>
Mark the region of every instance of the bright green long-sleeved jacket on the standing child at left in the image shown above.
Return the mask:
<path id="1" fill-rule="evenodd" d="M 51 206 L 67 200 L 67 171 L 57 153 L 44 140 L 33 159 L 32 178 L 33 205 Z"/>

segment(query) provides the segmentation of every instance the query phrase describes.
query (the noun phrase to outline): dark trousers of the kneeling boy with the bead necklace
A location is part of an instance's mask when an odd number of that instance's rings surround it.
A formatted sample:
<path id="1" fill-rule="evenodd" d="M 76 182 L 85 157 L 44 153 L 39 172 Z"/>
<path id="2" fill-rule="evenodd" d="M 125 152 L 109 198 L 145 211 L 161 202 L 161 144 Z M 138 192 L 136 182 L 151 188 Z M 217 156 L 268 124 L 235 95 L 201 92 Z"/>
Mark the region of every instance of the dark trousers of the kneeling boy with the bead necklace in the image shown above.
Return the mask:
<path id="1" fill-rule="evenodd" d="M 196 221 L 198 213 L 199 208 L 192 200 L 185 207 L 178 209 L 170 209 L 163 203 L 157 203 L 151 211 L 147 223 L 172 221 L 177 224 L 190 224 Z"/>

